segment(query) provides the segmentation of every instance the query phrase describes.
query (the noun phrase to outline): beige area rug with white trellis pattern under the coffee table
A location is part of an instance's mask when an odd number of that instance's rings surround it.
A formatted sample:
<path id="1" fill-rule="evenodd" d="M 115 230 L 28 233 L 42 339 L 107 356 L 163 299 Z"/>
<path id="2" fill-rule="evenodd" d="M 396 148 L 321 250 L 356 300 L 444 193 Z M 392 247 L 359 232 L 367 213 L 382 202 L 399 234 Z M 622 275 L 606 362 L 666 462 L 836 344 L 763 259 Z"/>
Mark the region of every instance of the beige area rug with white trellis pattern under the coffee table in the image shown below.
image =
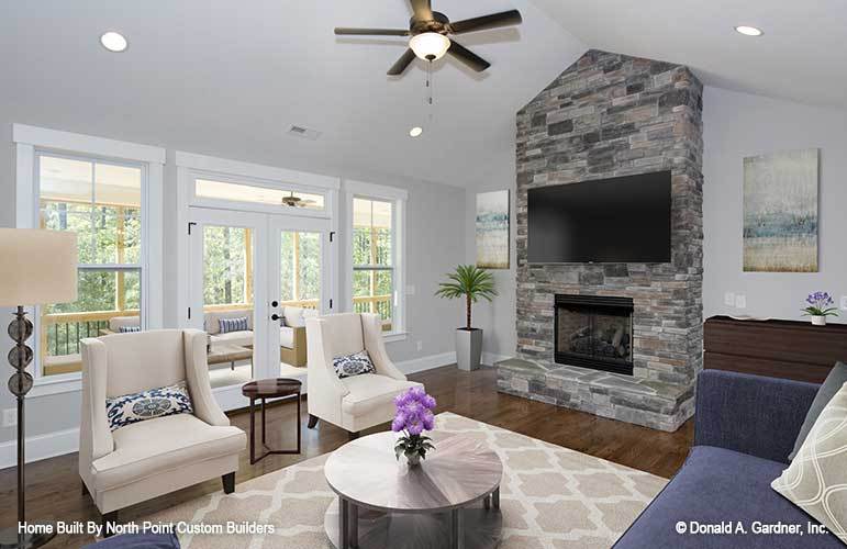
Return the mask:
<path id="1" fill-rule="evenodd" d="M 667 481 L 452 413 L 438 414 L 434 438 L 484 439 L 503 460 L 501 549 L 608 548 Z M 274 534 L 182 534 L 182 547 L 330 549 L 324 514 L 334 498 L 323 475 L 328 455 L 158 513 L 149 520 L 194 525 L 258 523 Z"/>

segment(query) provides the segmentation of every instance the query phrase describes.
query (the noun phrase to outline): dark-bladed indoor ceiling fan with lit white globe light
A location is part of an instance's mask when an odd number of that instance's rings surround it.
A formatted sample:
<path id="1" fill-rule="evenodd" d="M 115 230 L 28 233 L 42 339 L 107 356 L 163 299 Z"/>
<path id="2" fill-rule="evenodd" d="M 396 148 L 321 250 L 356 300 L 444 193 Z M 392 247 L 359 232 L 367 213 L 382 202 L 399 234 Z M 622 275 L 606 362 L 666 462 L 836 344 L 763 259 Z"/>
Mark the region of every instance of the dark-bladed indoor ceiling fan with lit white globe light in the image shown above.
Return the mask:
<path id="1" fill-rule="evenodd" d="M 444 57 L 445 54 L 450 54 L 477 72 L 482 72 L 491 64 L 448 35 L 516 25 L 522 21 L 521 12 L 510 10 L 452 23 L 447 15 L 432 10 L 430 0 L 410 0 L 410 2 L 414 15 L 409 21 L 408 31 L 404 29 L 336 27 L 335 34 L 349 36 L 411 36 L 409 48 L 388 69 L 390 76 L 402 75 L 409 68 L 409 65 L 412 64 L 415 56 L 427 61 L 434 61 Z"/>

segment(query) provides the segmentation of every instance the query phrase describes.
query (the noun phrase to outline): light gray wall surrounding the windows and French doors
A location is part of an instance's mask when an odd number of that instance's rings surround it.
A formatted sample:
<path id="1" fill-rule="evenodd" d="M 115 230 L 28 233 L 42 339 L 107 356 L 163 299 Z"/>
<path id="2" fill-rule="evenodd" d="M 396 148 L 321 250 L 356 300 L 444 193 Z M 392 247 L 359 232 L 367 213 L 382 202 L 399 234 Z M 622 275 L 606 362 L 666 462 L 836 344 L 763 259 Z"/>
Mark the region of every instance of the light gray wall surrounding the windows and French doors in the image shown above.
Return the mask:
<path id="1" fill-rule="evenodd" d="M 0 101 L 0 226 L 14 226 L 14 146 L 12 144 L 12 123 L 40 125 L 55 130 L 97 135 L 114 139 L 130 141 L 168 149 L 168 164 L 165 167 L 164 201 L 164 322 L 166 327 L 176 326 L 174 307 L 167 306 L 176 300 L 176 292 L 181 288 L 177 283 L 176 239 L 176 168 L 174 150 L 188 150 L 209 154 L 270 166 L 300 169 L 317 173 L 341 176 L 343 178 L 370 181 L 378 184 L 393 186 L 409 190 L 406 206 L 406 283 L 415 287 L 415 294 L 406 296 L 406 329 L 410 333 L 405 341 L 388 344 L 388 350 L 395 361 L 416 361 L 421 358 L 437 358 L 454 350 L 453 323 L 444 318 L 453 314 L 450 303 L 432 299 L 442 274 L 450 270 L 465 258 L 465 189 L 417 180 L 411 177 L 392 177 L 372 171 L 344 168 L 344 159 L 334 159 L 338 164 L 319 164 L 304 161 L 302 158 L 288 158 L 278 150 L 256 148 L 250 152 L 245 143 L 234 136 L 232 148 L 220 134 L 208 136 L 203 132 L 183 131 L 170 134 L 151 134 L 146 131 L 136 133 L 137 126 L 122 122 L 120 117 L 105 124 L 103 117 L 92 117 L 88 125 L 85 113 L 75 115 L 68 111 L 56 121 L 46 120 L 41 112 L 24 112 L 12 109 Z M 315 146 L 320 146 L 320 143 Z M 339 220 L 342 223 L 344 220 Z M 11 316 L 9 310 L 0 310 L 0 349 L 9 349 L 12 341 L 5 336 L 5 323 Z M 420 341 L 421 350 L 417 350 Z M 5 350 L 0 352 L 5 356 Z M 444 358 L 444 357 L 442 357 Z M 5 363 L 5 360 L 2 360 Z M 420 363 L 420 362 L 416 362 Z M 428 363 L 433 363 L 430 361 Z M 11 374 L 11 367 L 0 366 L 0 372 Z M 4 381 L 3 381 L 4 382 Z M 0 410 L 14 406 L 13 397 L 5 390 L 0 390 Z M 79 425 L 79 394 L 63 393 L 30 397 L 26 401 L 26 434 L 31 438 L 27 446 L 34 448 L 30 453 L 48 451 L 53 444 L 44 435 L 64 434 L 58 437 L 62 444 L 71 444 L 76 435 L 70 429 Z M 13 456 L 14 447 L 10 442 L 15 436 L 13 427 L 0 428 L 0 463 Z"/>

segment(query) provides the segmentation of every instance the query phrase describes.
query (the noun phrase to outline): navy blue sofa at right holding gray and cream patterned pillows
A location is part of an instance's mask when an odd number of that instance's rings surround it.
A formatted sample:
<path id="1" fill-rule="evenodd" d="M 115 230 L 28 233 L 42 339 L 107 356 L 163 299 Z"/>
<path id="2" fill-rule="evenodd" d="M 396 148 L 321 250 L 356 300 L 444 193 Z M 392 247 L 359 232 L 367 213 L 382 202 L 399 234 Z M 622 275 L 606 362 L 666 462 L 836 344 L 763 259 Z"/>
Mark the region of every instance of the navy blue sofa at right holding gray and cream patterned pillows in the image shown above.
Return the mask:
<path id="1" fill-rule="evenodd" d="M 832 534 L 809 534 L 807 523 L 817 522 L 770 488 L 788 467 L 818 386 L 704 370 L 698 379 L 694 447 L 614 547 L 844 549 Z M 692 535 L 692 522 L 728 523 L 732 531 Z M 756 522 L 798 524 L 805 534 L 754 534 Z M 678 523 L 684 524 L 684 534 L 677 531 Z M 746 534 L 736 530 L 737 524 Z"/>

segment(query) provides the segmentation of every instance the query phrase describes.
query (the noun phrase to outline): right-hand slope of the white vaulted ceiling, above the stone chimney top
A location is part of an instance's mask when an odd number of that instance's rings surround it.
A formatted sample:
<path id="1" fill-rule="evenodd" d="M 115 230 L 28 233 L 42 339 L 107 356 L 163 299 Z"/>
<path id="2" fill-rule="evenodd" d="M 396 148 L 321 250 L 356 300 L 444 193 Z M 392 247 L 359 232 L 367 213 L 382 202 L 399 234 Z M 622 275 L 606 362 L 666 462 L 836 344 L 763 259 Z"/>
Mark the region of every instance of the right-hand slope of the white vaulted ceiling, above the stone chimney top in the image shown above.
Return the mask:
<path id="1" fill-rule="evenodd" d="M 593 48 L 688 65 L 706 85 L 847 108 L 844 0 L 533 0 Z M 753 25 L 765 34 L 735 32 Z"/>

